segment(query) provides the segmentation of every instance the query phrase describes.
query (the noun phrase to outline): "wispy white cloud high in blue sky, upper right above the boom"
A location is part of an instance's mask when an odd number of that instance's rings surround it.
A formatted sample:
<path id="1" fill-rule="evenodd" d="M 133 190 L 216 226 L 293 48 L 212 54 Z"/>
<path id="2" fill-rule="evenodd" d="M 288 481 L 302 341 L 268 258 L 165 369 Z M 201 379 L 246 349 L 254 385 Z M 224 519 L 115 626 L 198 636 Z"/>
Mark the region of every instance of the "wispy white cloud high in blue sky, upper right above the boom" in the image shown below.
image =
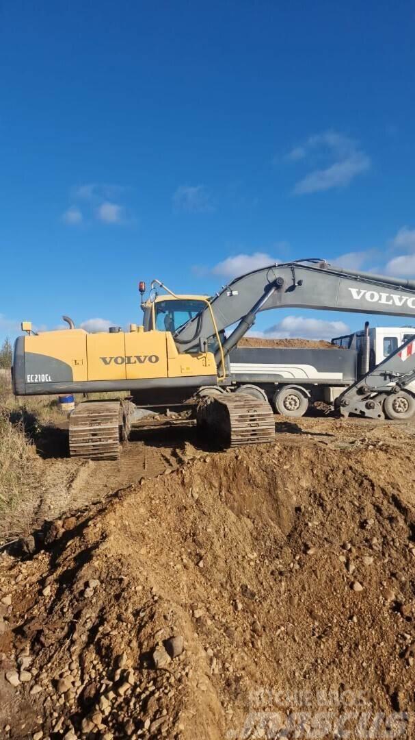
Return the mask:
<path id="1" fill-rule="evenodd" d="M 295 185 L 295 195 L 305 195 L 312 192 L 346 187 L 351 181 L 370 165 L 370 159 L 357 145 L 357 142 L 348 136 L 335 131 L 326 131 L 310 136 L 305 144 L 295 147 L 287 158 L 292 161 L 315 159 L 315 156 L 329 156 L 332 164 L 312 169 Z"/>

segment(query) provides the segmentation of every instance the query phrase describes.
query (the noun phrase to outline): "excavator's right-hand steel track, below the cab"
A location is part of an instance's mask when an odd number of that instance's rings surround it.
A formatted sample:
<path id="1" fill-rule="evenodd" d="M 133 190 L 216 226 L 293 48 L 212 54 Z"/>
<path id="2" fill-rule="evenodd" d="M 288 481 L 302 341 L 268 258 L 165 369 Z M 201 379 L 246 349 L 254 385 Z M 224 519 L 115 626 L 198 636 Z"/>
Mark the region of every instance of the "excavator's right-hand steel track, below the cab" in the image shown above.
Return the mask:
<path id="1" fill-rule="evenodd" d="M 197 410 L 197 423 L 224 447 L 260 445 L 275 439 L 270 404 L 248 394 L 205 398 Z"/>

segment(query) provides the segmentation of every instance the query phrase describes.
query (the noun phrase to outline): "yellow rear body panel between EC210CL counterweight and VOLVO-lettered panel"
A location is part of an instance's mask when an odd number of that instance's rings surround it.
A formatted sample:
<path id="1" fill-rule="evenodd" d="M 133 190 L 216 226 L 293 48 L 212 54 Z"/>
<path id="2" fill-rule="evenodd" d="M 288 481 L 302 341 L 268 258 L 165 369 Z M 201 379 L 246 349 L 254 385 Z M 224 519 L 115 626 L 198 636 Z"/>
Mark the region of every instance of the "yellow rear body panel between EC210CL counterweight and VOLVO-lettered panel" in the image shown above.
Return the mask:
<path id="1" fill-rule="evenodd" d="M 92 334 L 86 334 L 83 329 L 43 332 L 38 336 L 24 337 L 24 351 L 55 357 L 67 363 L 72 368 L 74 382 L 88 380 L 86 337 L 90 336 Z"/>

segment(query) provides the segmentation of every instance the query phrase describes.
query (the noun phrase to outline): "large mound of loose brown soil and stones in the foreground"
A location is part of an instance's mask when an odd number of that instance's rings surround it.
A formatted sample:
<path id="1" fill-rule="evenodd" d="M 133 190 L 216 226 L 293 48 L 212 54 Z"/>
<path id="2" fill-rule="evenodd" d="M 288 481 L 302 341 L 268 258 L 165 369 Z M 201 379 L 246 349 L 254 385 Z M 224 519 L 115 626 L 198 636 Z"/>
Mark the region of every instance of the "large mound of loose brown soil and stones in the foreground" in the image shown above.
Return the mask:
<path id="1" fill-rule="evenodd" d="M 276 422 L 136 430 L 0 556 L 1 738 L 414 737 L 414 426 Z"/>

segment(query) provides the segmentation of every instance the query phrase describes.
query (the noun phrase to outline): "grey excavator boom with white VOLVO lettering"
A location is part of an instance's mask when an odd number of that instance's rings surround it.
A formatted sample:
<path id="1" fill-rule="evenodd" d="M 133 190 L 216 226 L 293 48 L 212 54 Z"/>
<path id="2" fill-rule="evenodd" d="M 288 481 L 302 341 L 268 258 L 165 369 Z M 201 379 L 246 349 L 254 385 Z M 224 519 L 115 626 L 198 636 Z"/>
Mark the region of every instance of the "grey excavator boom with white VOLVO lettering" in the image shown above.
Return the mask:
<path id="1" fill-rule="evenodd" d="M 253 326 L 258 312 L 294 307 L 415 317 L 415 280 L 355 272 L 325 260 L 275 264 L 224 286 L 210 300 L 211 310 L 206 306 L 176 332 L 174 340 L 180 352 L 196 351 L 216 329 L 221 332 L 238 323 L 223 345 L 227 354 Z"/>

